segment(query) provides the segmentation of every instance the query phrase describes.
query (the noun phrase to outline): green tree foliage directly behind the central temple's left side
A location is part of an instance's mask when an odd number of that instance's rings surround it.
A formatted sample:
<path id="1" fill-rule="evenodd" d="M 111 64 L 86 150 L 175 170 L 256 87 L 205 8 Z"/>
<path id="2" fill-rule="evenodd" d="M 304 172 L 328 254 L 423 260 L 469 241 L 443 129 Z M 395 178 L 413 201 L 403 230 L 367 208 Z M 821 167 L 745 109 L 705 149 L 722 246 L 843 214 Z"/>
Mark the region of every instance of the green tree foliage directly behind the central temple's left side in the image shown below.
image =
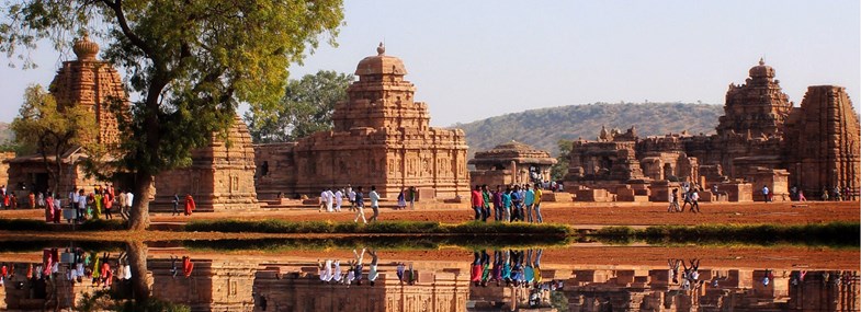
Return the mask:
<path id="1" fill-rule="evenodd" d="M 253 106 L 245 115 L 251 138 L 258 143 L 295 141 L 332 128 L 335 104 L 347 100 L 352 74 L 320 70 L 290 80 L 274 106 Z"/>

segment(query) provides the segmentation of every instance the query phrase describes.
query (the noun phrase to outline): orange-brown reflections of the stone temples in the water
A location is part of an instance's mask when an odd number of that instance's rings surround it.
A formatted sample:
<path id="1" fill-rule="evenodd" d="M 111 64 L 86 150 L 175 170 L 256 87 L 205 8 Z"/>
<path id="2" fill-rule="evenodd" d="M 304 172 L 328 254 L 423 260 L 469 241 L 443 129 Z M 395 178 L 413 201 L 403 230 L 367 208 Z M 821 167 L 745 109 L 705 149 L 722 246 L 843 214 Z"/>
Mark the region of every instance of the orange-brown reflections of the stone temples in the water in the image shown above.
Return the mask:
<path id="1" fill-rule="evenodd" d="M 699 269 L 701 285 L 684 289 L 669 270 L 655 267 L 593 269 L 546 264 L 544 280 L 562 281 L 556 290 L 567 310 L 550 308 L 540 291 L 540 308 L 525 302 L 528 288 L 469 282 L 467 263 L 416 262 L 415 282 L 401 282 L 397 263 L 381 262 L 374 286 L 324 282 L 313 259 L 195 258 L 186 278 L 175 277 L 170 259 L 150 258 L 152 294 L 188 304 L 192 311 L 859 311 L 859 274 L 840 270 Z M 0 310 L 42 310 L 49 286 L 24 278 L 26 263 L 0 288 Z M 342 267 L 347 269 L 347 265 Z M 65 267 L 59 274 L 64 276 Z M 763 282 L 769 277 L 768 282 Z M 114 282 L 113 288 L 123 282 Z M 88 280 L 57 279 L 60 307 L 101 288 Z M 48 307 L 53 303 L 49 302 Z"/>

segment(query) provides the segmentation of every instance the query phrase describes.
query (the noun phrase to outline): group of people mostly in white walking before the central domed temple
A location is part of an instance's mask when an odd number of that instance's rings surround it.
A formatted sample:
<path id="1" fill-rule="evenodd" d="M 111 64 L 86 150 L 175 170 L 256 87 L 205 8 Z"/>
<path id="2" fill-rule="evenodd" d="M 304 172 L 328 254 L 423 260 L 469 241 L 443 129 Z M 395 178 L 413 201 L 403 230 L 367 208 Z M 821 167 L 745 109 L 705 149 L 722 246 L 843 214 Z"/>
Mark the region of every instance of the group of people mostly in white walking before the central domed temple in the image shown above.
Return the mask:
<path id="1" fill-rule="evenodd" d="M 416 187 L 401 187 L 397 196 L 397 207 L 395 210 L 407 209 L 407 203 L 409 203 L 410 209 L 416 209 L 417 195 Z M 353 189 L 351 185 L 347 185 L 347 188 L 339 188 L 336 190 L 324 188 L 320 192 L 320 206 L 317 211 L 321 212 L 326 210 L 326 212 L 340 212 L 341 208 L 344 206 L 343 201 L 347 199 L 349 204 L 348 210 L 355 212 L 353 222 L 358 223 L 359 219 L 362 219 L 362 223 L 367 224 L 367 222 L 375 222 L 378 220 L 381 198 L 379 193 L 376 192 L 376 186 L 372 185 L 371 192 L 367 193 L 367 199 L 371 200 L 373 215 L 371 218 L 365 218 L 365 194 L 362 186 L 358 186 L 355 189 Z"/>

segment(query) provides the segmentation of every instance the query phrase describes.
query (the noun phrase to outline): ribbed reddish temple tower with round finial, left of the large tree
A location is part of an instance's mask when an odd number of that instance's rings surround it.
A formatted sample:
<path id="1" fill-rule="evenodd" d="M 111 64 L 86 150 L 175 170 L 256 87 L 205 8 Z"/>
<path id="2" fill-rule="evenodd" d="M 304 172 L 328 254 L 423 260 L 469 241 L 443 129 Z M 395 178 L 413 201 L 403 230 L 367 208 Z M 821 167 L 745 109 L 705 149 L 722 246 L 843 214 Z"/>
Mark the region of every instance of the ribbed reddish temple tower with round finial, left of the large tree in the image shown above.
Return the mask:
<path id="1" fill-rule="evenodd" d="M 120 73 L 107 61 L 97 59 L 99 45 L 87 34 L 75 42 L 72 51 L 78 59 L 63 62 L 48 90 L 60 109 L 80 105 L 94 114 L 99 125 L 98 142 L 120 142 L 116 114 L 111 109 L 117 103 L 122 112 L 128 111 L 128 96 Z"/>

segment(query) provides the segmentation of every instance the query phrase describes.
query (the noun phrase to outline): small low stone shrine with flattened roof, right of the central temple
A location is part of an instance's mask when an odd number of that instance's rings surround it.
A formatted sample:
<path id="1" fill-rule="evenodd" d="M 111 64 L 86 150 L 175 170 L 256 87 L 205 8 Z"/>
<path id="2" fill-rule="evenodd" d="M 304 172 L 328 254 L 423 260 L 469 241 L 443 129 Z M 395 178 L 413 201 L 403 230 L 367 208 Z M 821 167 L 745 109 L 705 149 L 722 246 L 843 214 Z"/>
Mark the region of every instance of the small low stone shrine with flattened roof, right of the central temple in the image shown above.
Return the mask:
<path id="1" fill-rule="evenodd" d="M 469 171 L 473 185 L 495 186 L 550 181 L 556 162 L 546 151 L 511 141 L 476 152 L 467 163 L 475 165 Z"/>

